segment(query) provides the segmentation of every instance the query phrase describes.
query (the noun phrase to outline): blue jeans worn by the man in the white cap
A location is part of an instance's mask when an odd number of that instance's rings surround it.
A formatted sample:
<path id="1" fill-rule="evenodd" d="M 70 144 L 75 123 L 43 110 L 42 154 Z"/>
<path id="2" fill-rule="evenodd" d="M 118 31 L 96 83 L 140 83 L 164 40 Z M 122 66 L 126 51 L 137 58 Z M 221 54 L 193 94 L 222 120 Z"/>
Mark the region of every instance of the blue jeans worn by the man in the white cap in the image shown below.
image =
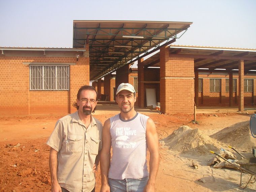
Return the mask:
<path id="1" fill-rule="evenodd" d="M 108 178 L 110 192 L 143 192 L 149 177 L 141 179 L 111 179 Z"/>

